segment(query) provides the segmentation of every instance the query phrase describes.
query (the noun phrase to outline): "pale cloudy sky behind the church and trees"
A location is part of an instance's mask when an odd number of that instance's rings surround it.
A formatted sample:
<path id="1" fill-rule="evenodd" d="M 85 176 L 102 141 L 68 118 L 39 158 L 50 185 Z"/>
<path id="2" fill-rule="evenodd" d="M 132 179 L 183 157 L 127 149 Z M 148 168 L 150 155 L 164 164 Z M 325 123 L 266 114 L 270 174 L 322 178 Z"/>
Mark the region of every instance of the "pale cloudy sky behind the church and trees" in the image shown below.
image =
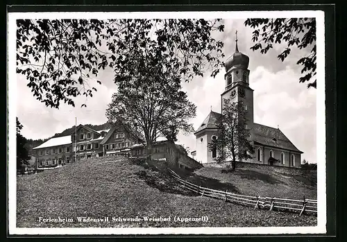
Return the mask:
<path id="1" fill-rule="evenodd" d="M 254 121 L 265 126 L 280 128 L 291 142 L 303 151 L 302 159 L 316 162 L 316 89 L 307 89 L 307 84 L 299 83 L 301 66 L 299 58 L 310 49 L 292 49 L 284 62 L 277 56 L 284 46 L 274 45 L 266 55 L 252 51 L 252 29 L 244 26 L 245 19 L 224 20 L 225 29 L 218 33 L 224 42 L 223 53 L 226 60 L 235 51 L 235 31 L 237 30 L 239 51 L 248 55 L 250 72 L 249 86 L 254 90 Z M 208 73 L 183 83 L 190 101 L 196 105 L 194 128 L 201 125 L 210 110 L 221 112 L 221 93 L 225 88 L 225 70 L 212 78 Z M 33 97 L 24 76 L 17 74 L 17 116 L 24 128 L 22 135 L 27 139 L 45 139 L 57 132 L 77 124 L 101 124 L 107 121 L 105 110 L 113 93 L 117 92 L 112 82 L 110 69 L 99 73 L 102 85 L 96 85 L 97 92 L 92 98 L 78 97 L 76 107 L 62 103 L 60 109 L 46 107 Z M 85 103 L 87 107 L 81 107 Z M 195 150 L 195 137 L 179 135 L 178 143 Z"/>

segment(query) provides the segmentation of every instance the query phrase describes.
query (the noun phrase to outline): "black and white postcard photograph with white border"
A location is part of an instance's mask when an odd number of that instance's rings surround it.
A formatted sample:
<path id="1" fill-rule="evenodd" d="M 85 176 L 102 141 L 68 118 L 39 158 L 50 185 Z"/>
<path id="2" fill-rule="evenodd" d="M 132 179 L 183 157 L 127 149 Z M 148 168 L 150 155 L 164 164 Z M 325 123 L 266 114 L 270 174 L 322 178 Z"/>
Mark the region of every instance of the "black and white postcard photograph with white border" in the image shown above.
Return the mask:
<path id="1" fill-rule="evenodd" d="M 324 47 L 322 11 L 9 12 L 10 234 L 325 233 Z"/>

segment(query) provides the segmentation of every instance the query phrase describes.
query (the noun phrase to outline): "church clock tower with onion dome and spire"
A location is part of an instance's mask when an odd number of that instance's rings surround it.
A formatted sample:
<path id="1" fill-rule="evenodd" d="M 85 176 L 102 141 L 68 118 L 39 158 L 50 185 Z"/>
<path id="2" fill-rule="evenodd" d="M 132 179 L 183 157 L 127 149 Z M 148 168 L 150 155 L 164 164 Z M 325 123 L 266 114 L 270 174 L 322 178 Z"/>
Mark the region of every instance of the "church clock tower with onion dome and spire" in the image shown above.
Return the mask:
<path id="1" fill-rule="evenodd" d="M 247 128 L 253 128 L 253 89 L 249 87 L 249 58 L 239 52 L 237 46 L 237 31 L 235 40 L 235 53 L 226 60 L 226 89 L 221 94 L 221 112 L 223 113 L 223 100 L 242 101 L 247 110 Z"/>

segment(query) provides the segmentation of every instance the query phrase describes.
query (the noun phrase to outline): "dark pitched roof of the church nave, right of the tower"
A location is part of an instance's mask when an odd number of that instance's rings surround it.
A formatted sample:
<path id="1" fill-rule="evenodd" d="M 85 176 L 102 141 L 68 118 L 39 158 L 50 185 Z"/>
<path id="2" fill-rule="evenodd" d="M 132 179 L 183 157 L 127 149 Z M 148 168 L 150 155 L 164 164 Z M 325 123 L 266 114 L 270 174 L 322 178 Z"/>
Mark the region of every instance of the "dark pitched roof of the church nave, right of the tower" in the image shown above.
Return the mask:
<path id="1" fill-rule="evenodd" d="M 253 125 L 253 141 L 264 146 L 273 146 L 298 153 L 303 153 L 278 128 L 263 126 L 259 123 Z"/>

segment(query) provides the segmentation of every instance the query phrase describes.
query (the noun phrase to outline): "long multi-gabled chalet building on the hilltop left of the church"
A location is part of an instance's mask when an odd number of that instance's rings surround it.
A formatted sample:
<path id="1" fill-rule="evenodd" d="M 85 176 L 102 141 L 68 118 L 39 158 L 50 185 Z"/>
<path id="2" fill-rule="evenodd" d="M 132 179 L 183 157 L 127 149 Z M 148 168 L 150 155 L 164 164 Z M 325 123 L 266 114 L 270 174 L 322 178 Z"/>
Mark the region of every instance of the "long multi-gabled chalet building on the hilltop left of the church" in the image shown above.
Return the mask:
<path id="1" fill-rule="evenodd" d="M 51 138 L 33 148 L 37 169 L 49 169 L 63 166 L 77 160 L 109 155 L 127 155 L 145 157 L 146 147 L 141 134 L 129 135 L 120 126 L 108 130 L 93 130 L 79 125 L 70 135 Z M 75 148 L 76 147 L 76 148 Z M 75 158 L 76 157 L 76 158 Z M 165 161 L 169 166 L 194 169 L 201 164 L 187 155 L 183 146 L 167 139 L 153 144 L 151 159 Z"/>

